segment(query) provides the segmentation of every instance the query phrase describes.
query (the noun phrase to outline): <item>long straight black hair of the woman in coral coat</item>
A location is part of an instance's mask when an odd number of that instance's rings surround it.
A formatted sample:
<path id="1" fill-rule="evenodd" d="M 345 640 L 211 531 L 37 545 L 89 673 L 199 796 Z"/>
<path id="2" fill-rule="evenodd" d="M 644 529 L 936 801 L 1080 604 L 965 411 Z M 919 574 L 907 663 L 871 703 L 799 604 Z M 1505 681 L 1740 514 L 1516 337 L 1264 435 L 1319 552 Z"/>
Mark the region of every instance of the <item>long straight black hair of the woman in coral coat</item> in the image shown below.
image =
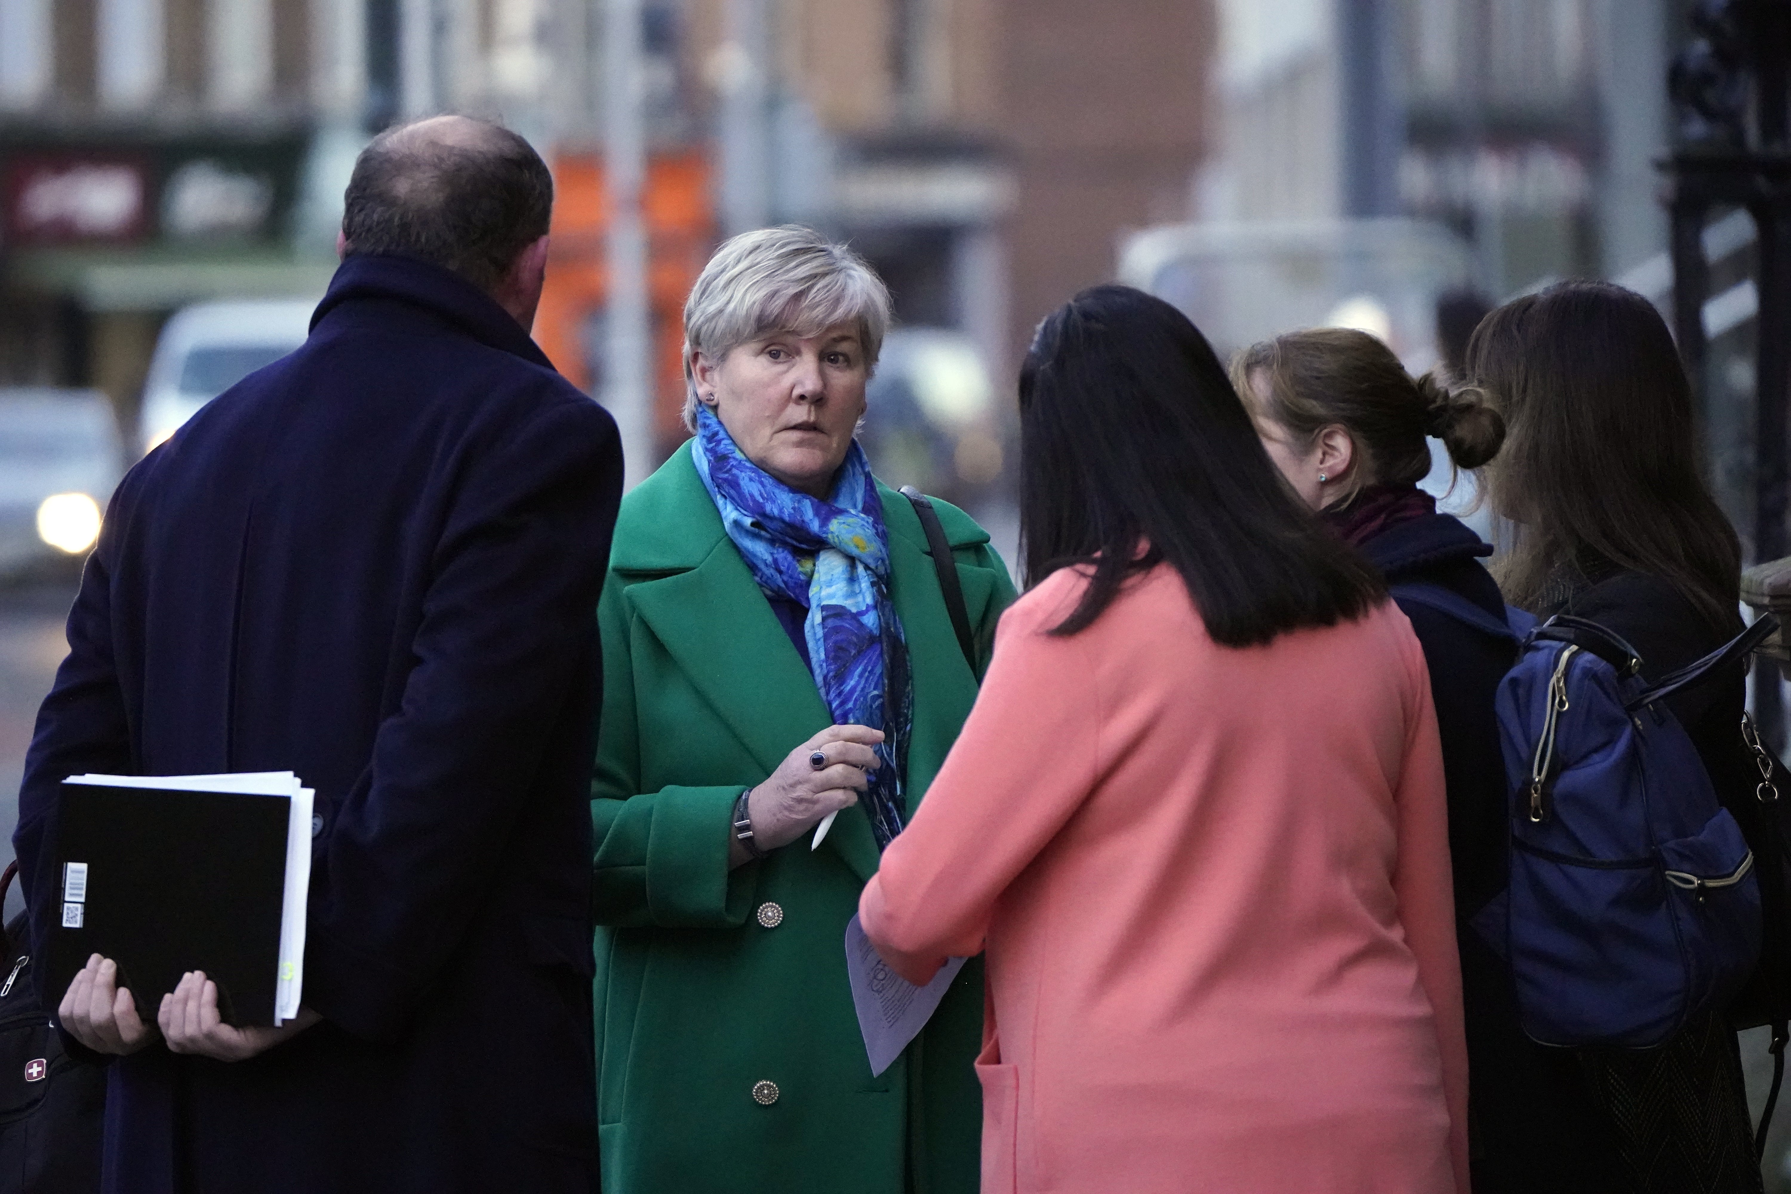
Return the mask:
<path id="1" fill-rule="evenodd" d="M 1093 567 L 1053 634 L 1084 630 L 1164 560 L 1225 646 L 1356 618 L 1384 593 L 1288 492 L 1213 347 L 1162 299 L 1094 286 L 1046 319 L 1019 426 L 1026 585 Z"/>

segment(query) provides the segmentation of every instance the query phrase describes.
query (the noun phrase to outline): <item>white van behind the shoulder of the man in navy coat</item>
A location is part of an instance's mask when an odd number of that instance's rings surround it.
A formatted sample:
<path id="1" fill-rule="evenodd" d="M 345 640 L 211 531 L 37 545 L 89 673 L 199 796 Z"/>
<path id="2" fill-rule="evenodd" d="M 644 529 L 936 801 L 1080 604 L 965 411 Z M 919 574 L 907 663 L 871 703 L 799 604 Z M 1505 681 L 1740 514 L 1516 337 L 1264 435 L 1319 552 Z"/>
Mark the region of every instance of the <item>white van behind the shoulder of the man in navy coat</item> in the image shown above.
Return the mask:
<path id="1" fill-rule="evenodd" d="M 152 451 L 213 397 L 304 344 L 317 299 L 195 303 L 161 328 L 138 444 Z"/>

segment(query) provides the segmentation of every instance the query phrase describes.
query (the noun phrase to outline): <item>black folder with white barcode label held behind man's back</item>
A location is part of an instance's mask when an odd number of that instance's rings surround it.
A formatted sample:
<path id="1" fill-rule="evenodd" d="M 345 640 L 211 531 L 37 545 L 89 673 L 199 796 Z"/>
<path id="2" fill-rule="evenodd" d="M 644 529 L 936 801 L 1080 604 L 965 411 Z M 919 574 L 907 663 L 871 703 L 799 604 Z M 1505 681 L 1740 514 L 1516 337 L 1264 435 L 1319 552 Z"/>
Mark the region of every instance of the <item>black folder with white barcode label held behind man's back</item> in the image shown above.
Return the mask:
<path id="1" fill-rule="evenodd" d="M 272 1026 L 292 798 L 81 782 L 57 795 L 50 997 L 102 954 L 145 1024 L 204 970 L 224 1020 Z"/>

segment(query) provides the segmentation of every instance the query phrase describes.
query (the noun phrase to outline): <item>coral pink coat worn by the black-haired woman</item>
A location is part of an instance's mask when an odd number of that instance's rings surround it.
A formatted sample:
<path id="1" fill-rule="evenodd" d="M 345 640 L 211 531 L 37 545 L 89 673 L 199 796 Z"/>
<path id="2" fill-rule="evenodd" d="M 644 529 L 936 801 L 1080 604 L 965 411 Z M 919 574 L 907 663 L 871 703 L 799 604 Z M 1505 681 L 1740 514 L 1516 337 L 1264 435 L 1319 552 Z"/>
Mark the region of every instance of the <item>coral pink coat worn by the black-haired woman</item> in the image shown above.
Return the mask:
<path id="1" fill-rule="evenodd" d="M 976 709 L 860 902 L 910 981 L 987 949 L 983 1194 L 1467 1190 L 1442 752 L 1393 605 L 1270 646 L 1159 566 Z"/>

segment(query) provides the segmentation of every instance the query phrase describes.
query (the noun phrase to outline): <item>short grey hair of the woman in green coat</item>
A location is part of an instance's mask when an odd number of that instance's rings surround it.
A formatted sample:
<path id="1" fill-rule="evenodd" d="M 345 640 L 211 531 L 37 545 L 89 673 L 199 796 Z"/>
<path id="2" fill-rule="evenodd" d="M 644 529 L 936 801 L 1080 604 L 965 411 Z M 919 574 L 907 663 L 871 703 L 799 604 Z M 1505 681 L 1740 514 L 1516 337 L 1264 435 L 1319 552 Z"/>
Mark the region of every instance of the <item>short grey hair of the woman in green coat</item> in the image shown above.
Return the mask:
<path id="1" fill-rule="evenodd" d="M 865 367 L 876 369 L 890 292 L 863 258 L 799 224 L 731 236 L 684 301 L 684 426 L 697 430 L 697 353 L 720 360 L 777 331 L 815 337 L 844 322 L 858 324 Z"/>

